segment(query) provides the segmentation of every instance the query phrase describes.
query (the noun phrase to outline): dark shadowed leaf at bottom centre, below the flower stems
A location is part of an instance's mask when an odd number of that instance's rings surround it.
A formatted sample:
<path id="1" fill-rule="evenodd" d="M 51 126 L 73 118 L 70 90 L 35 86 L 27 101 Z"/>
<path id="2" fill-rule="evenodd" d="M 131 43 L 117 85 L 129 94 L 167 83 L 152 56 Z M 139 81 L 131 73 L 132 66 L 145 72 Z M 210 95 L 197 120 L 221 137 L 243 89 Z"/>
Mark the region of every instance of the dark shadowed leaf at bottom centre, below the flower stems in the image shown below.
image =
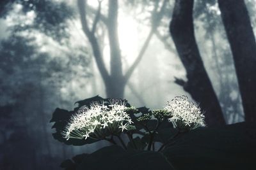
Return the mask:
<path id="1" fill-rule="evenodd" d="M 100 163 L 99 163 L 100 162 Z M 160 152 L 126 152 L 120 146 L 108 146 L 87 155 L 77 170 L 82 169 L 173 169 L 171 163 Z"/>

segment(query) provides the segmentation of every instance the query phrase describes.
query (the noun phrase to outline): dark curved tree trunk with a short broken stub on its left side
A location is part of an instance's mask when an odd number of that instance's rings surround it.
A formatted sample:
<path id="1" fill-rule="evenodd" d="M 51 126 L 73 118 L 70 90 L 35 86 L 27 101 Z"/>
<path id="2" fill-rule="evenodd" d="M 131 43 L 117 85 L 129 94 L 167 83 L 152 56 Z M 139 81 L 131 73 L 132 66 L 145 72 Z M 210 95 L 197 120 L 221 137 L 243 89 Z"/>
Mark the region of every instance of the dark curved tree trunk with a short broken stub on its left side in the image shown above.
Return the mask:
<path id="1" fill-rule="evenodd" d="M 176 0 L 170 23 L 170 32 L 188 78 L 187 82 L 177 79 L 176 83 L 182 85 L 184 90 L 200 103 L 205 111 L 207 125 L 221 125 L 225 124 L 225 120 L 220 103 L 196 45 L 193 4 L 193 0 Z"/>

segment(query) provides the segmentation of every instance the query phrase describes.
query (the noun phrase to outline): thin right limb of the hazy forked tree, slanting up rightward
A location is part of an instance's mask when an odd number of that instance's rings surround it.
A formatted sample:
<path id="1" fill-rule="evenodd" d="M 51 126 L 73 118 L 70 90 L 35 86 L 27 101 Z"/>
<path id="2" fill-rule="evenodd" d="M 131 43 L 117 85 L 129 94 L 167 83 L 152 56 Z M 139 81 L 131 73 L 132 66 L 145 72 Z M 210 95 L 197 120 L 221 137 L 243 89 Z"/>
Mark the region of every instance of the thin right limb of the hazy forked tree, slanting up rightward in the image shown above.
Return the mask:
<path id="1" fill-rule="evenodd" d="M 131 74 L 133 73 L 134 69 L 138 66 L 145 51 L 147 50 L 150 39 L 152 38 L 154 32 L 156 31 L 161 18 L 163 17 L 164 8 L 165 8 L 167 2 L 168 2 L 167 0 L 164 0 L 163 4 L 161 6 L 161 10 L 159 12 L 157 12 L 158 6 L 157 5 L 155 6 L 154 11 L 152 13 L 152 18 L 154 18 L 154 17 L 156 17 L 156 18 L 155 18 L 155 20 L 152 20 L 152 28 L 151 28 L 150 32 L 148 33 L 147 39 L 146 39 L 144 45 L 142 46 L 138 57 L 136 58 L 136 60 L 134 60 L 132 66 L 128 69 L 127 73 L 125 74 L 125 81 L 129 80 L 129 78 L 131 77 Z"/>

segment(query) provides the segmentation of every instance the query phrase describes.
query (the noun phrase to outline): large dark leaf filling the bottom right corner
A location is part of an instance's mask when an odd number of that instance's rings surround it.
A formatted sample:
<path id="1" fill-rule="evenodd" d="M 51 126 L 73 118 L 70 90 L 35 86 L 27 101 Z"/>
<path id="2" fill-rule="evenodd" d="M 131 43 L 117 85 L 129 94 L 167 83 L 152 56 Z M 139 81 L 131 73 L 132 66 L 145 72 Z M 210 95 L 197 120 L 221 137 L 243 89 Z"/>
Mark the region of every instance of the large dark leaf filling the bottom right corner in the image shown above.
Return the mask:
<path id="1" fill-rule="evenodd" d="M 181 170 L 255 169 L 256 125 L 239 123 L 195 129 L 163 153 Z"/>

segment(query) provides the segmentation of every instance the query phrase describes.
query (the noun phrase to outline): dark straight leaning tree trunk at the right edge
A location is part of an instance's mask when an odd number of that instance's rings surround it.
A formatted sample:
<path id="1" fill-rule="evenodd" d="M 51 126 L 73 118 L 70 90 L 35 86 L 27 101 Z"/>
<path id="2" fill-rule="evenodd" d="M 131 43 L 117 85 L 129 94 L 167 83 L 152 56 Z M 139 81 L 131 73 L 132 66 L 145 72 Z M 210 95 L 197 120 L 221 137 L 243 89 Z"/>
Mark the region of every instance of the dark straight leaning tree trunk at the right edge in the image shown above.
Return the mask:
<path id="1" fill-rule="evenodd" d="M 227 32 L 246 122 L 256 122 L 256 43 L 243 0 L 218 0 Z"/>

